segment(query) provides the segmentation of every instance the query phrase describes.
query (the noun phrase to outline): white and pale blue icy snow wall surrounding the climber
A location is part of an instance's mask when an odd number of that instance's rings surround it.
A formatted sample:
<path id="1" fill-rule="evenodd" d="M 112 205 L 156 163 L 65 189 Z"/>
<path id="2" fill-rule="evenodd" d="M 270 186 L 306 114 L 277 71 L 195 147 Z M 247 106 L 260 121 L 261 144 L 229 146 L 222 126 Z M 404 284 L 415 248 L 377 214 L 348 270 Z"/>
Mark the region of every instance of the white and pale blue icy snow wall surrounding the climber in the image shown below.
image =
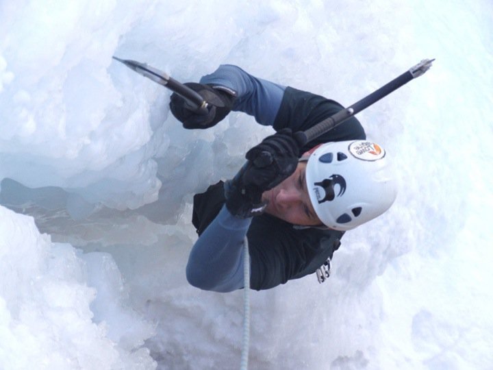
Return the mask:
<path id="1" fill-rule="evenodd" d="M 242 292 L 186 282 L 191 201 L 271 130 L 186 131 L 115 55 L 346 106 L 436 58 L 358 114 L 396 203 L 325 284 L 252 292 L 250 367 L 493 369 L 492 24 L 490 0 L 0 1 L 0 368 L 239 367 Z"/>

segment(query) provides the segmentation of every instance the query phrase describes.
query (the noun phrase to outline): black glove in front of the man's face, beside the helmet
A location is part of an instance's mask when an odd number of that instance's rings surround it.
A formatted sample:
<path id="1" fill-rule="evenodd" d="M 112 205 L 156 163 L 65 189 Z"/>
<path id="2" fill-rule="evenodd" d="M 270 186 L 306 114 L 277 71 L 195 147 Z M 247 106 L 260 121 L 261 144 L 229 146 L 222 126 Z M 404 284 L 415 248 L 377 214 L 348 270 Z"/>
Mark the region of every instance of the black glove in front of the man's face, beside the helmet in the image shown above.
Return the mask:
<path id="1" fill-rule="evenodd" d="M 262 193 L 289 177 L 298 165 L 300 145 L 290 129 L 266 137 L 247 151 L 249 160 L 233 180 L 225 182 L 226 208 L 242 219 L 264 212 Z"/>

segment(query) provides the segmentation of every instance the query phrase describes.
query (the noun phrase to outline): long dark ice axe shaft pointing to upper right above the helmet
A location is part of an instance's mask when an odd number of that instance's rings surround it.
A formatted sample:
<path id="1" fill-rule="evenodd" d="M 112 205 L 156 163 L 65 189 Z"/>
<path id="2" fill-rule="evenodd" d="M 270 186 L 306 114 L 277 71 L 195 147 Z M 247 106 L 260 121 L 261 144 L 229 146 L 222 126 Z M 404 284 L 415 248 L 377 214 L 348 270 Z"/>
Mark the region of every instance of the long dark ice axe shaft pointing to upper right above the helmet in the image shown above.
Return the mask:
<path id="1" fill-rule="evenodd" d="M 383 97 L 389 95 L 390 93 L 392 93 L 392 91 L 397 90 L 412 79 L 423 75 L 426 71 L 430 69 L 433 60 L 435 59 L 422 60 L 421 62 L 416 64 L 416 66 L 412 66 L 408 71 L 405 71 L 405 73 L 403 73 L 399 77 L 392 79 L 392 81 L 388 82 L 388 84 L 383 85 L 381 88 L 375 90 L 370 95 L 357 101 L 349 108 L 340 110 L 336 114 L 333 114 L 327 119 L 320 121 L 304 132 L 296 132 L 296 140 L 298 140 L 298 142 L 303 146 L 309 141 L 314 140 L 314 138 L 317 138 L 318 136 L 325 134 L 325 132 L 332 130 L 334 127 L 346 121 L 346 119 L 351 118 L 358 112 L 361 112 L 365 108 L 371 106 L 376 101 L 379 101 Z"/>

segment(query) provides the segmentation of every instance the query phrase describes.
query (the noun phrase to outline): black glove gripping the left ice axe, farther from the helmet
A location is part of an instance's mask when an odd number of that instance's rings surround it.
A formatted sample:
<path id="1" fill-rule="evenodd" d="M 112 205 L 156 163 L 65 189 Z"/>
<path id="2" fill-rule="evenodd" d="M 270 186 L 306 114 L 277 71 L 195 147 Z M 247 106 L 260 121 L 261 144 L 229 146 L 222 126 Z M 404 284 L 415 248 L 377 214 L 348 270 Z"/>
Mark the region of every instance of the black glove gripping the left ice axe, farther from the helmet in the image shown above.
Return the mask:
<path id="1" fill-rule="evenodd" d="M 207 114 L 198 114 L 188 105 L 186 100 L 177 93 L 170 98 L 170 110 L 186 129 L 205 129 L 222 121 L 233 107 L 233 95 L 209 85 L 187 82 L 184 84 L 196 91 L 207 101 Z"/>

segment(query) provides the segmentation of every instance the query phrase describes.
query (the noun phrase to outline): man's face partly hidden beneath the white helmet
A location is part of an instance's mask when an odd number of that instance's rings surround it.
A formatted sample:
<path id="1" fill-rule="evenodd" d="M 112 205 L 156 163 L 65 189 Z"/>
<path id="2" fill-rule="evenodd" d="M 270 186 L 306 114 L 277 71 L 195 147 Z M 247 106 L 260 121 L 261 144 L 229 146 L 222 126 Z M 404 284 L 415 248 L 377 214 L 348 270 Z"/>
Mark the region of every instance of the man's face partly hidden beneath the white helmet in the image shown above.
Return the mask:
<path id="1" fill-rule="evenodd" d="M 306 162 L 298 162 L 290 177 L 262 194 L 262 200 L 268 201 L 266 213 L 294 225 L 322 224 L 309 199 L 305 170 Z"/>

